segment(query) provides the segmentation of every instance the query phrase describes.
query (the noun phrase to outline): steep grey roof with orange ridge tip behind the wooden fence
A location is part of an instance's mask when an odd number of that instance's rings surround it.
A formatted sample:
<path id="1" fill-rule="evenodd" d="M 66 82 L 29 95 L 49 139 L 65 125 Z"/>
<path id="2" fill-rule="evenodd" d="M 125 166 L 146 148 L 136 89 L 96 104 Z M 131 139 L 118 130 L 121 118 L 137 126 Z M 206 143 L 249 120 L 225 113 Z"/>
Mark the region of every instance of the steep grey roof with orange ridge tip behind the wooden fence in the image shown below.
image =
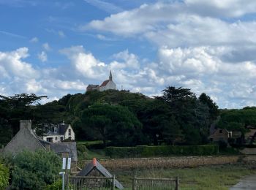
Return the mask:
<path id="1" fill-rule="evenodd" d="M 89 175 L 89 173 L 92 170 L 98 170 L 99 173 L 101 173 L 103 176 L 105 176 L 107 178 L 113 177 L 113 175 L 111 175 L 110 172 L 108 172 L 108 170 L 105 169 L 105 167 L 103 167 L 102 164 L 100 164 L 99 161 L 97 161 L 97 159 L 95 159 L 95 158 L 89 164 L 87 164 L 86 167 L 84 167 L 83 170 L 80 171 L 77 176 Z M 124 189 L 122 184 L 116 179 L 115 179 L 115 186 L 117 189 Z"/>

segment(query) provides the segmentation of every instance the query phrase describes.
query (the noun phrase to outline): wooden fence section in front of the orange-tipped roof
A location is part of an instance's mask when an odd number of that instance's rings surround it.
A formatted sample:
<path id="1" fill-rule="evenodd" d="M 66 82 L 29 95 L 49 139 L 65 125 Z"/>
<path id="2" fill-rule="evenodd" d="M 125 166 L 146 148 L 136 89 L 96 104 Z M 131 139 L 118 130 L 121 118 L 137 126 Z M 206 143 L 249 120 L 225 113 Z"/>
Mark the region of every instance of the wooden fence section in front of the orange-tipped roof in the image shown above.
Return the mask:
<path id="1" fill-rule="evenodd" d="M 72 176 L 68 178 L 67 189 L 70 190 L 113 190 L 115 189 L 115 175 L 112 178 L 94 176 Z"/>

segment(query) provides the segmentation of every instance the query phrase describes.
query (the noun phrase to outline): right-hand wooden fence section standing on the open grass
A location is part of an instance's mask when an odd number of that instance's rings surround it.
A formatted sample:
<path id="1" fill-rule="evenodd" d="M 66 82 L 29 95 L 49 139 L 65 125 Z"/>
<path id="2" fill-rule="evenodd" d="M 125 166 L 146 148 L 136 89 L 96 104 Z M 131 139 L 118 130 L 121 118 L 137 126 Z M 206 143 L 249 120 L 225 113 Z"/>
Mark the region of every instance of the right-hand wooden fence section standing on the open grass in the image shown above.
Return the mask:
<path id="1" fill-rule="evenodd" d="M 179 189 L 179 178 L 136 178 L 132 179 L 132 190 Z"/>

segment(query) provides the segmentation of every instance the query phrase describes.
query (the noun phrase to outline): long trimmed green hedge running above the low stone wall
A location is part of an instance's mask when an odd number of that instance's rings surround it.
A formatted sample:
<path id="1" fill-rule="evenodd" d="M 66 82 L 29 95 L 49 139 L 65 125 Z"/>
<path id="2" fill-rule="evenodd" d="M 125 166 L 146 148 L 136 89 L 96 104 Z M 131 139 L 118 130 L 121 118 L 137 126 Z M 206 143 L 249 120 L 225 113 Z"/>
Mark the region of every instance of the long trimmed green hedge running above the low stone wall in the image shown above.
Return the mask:
<path id="1" fill-rule="evenodd" d="M 136 146 L 108 147 L 106 156 L 111 158 L 140 158 L 152 156 L 203 156 L 219 153 L 218 145 L 187 145 L 187 146 Z"/>

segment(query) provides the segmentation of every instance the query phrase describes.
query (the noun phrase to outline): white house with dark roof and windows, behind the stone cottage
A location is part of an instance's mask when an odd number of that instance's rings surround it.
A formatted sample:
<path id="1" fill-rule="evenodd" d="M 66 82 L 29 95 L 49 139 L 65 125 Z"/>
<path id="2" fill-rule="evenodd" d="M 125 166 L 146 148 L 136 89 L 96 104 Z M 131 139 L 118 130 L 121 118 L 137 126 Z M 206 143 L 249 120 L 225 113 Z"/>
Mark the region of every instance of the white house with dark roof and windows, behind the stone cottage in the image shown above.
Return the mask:
<path id="1" fill-rule="evenodd" d="M 57 126 L 48 127 L 48 132 L 43 135 L 42 139 L 48 142 L 75 140 L 75 132 L 70 124 L 65 124 L 63 121 Z"/>

